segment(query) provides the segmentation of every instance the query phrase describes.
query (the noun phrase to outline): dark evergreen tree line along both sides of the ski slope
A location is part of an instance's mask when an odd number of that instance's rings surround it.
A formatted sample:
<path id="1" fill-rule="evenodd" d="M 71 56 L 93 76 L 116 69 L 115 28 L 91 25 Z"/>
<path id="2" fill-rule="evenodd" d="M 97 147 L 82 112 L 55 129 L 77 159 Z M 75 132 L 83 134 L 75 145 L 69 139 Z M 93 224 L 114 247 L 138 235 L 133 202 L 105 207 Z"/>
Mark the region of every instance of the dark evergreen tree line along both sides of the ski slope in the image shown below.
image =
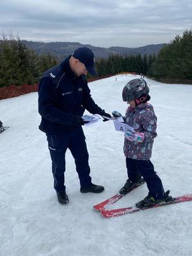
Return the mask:
<path id="1" fill-rule="evenodd" d="M 0 38 L 0 87 L 12 84 L 34 84 L 45 70 L 60 61 L 49 54 L 38 56 L 26 47 L 19 36 L 2 35 Z M 98 76 L 136 72 L 150 77 L 169 79 L 192 79 L 192 29 L 175 36 L 164 45 L 159 54 L 111 55 L 95 63 Z M 90 77 L 88 75 L 88 77 Z"/>

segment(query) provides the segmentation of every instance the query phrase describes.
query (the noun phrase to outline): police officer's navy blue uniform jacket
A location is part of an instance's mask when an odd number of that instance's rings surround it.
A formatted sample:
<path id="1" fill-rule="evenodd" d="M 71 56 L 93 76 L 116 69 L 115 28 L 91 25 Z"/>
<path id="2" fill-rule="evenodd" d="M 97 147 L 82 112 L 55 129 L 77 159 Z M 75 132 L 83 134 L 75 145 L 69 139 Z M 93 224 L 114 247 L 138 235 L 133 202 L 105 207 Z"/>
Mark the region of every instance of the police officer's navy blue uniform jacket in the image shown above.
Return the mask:
<path id="1" fill-rule="evenodd" d="M 75 116 L 83 116 L 87 109 L 99 114 L 102 109 L 95 104 L 85 76 L 75 76 L 70 69 L 70 56 L 40 79 L 38 111 L 42 116 L 40 130 L 47 134 L 62 134 L 76 129 Z"/>

